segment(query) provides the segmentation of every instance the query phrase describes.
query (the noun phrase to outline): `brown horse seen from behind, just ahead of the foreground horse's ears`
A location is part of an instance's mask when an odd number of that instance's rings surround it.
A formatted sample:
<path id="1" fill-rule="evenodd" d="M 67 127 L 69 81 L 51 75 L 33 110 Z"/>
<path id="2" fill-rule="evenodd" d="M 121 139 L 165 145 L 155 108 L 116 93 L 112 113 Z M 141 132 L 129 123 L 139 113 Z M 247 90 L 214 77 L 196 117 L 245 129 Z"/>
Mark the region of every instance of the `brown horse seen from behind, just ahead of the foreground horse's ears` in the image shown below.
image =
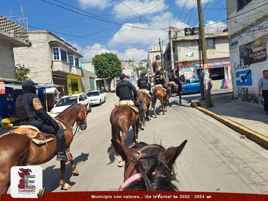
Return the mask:
<path id="1" fill-rule="evenodd" d="M 133 129 L 133 141 L 140 143 L 138 139 L 139 133 L 139 113 L 134 112 L 131 107 L 122 105 L 115 107 L 110 115 L 110 122 L 112 125 L 112 139 L 121 145 L 125 144 L 125 140 L 130 126 Z M 122 132 L 122 140 L 120 139 L 120 131 Z M 108 151 L 111 154 L 114 151 L 113 145 Z M 123 160 L 121 155 L 118 159 L 118 167 L 123 167 Z"/>

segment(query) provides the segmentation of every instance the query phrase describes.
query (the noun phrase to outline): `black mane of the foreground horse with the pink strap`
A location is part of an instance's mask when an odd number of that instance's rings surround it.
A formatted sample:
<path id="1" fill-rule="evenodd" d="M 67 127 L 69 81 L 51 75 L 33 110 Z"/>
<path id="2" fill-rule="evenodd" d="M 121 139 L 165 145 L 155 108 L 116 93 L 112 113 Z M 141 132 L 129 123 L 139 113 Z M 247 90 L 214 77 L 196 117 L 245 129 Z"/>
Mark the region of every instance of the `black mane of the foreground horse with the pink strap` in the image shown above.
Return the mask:
<path id="1" fill-rule="evenodd" d="M 142 148 L 147 146 L 146 143 L 139 143 L 131 148 Z M 148 154 L 148 157 L 140 160 L 150 164 L 150 169 L 144 169 L 143 163 L 139 160 L 136 162 L 134 169 L 137 173 L 142 173 L 140 180 L 134 181 L 123 189 L 123 191 L 179 191 L 174 183 L 179 183 L 172 175 L 172 169 L 168 168 L 168 164 L 165 160 L 160 158 L 158 155 L 165 153 L 165 148 L 158 144 L 153 144 L 158 148 L 148 148 L 143 151 Z M 158 170 L 157 174 L 152 174 L 155 169 Z M 165 177 L 163 177 L 165 176 Z"/>

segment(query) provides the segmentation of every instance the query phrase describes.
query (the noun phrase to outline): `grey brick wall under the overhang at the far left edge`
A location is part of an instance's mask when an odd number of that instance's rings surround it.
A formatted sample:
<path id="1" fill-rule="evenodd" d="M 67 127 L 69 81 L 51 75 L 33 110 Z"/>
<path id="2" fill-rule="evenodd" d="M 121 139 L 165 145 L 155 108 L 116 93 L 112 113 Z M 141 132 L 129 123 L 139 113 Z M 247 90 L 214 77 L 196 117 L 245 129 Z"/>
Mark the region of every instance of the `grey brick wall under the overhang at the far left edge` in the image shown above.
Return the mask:
<path id="1" fill-rule="evenodd" d="M 0 40 L 0 53 L 0 79 L 17 80 L 13 48 L 11 44 Z"/>

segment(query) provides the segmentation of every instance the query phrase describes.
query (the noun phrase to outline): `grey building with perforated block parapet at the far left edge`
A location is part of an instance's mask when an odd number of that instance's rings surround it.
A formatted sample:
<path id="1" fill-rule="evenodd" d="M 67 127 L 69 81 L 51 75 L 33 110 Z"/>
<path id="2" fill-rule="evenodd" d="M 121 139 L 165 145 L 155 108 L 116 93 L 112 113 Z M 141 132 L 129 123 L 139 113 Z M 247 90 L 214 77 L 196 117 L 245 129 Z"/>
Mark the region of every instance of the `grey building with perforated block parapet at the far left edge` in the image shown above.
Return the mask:
<path id="1" fill-rule="evenodd" d="M 0 15 L 0 81 L 17 81 L 13 48 L 21 47 L 25 51 L 29 49 L 28 36 L 20 34 L 26 31 L 27 29 Z"/>

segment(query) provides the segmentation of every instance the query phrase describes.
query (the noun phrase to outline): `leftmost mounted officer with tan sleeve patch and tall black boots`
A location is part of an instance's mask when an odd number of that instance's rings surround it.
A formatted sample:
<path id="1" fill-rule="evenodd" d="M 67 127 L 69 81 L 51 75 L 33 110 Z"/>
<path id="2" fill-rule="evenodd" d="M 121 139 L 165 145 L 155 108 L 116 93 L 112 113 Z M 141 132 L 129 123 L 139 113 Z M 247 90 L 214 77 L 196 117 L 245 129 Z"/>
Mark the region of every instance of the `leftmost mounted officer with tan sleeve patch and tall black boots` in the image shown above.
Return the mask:
<path id="1" fill-rule="evenodd" d="M 31 125 L 40 131 L 54 134 L 57 138 L 57 161 L 68 161 L 65 154 L 64 129 L 44 110 L 36 93 L 37 83 L 25 80 L 22 83 L 22 93 L 16 100 L 16 113 L 21 125 Z"/>

